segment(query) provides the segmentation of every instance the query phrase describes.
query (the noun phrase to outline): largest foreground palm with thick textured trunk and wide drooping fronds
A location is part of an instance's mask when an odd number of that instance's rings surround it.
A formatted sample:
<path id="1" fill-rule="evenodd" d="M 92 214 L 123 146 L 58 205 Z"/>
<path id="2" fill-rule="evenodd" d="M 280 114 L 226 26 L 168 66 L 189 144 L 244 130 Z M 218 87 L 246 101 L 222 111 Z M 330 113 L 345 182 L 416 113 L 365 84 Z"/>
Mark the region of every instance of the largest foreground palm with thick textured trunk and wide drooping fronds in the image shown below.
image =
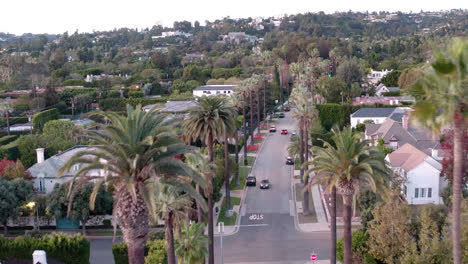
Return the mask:
<path id="1" fill-rule="evenodd" d="M 155 108 L 145 112 L 141 105 L 135 109 L 128 105 L 126 116 L 101 111 L 94 116 L 107 120 L 108 125 L 102 131 L 89 131 L 89 148 L 73 155 L 57 171 L 57 176 L 70 171 L 74 165 L 80 166 L 73 177 L 74 184 L 70 185 L 70 200 L 86 182 L 98 179 L 90 197 L 92 210 L 99 188 L 106 183 L 113 184 L 113 215 L 120 222 L 129 263 L 143 264 L 148 239 L 148 194 L 155 183 L 162 181 L 180 185 L 186 193 L 196 196 L 190 186 L 180 184 L 177 175 L 190 176 L 197 182 L 200 179 L 174 158 L 192 148 L 171 132 L 174 121 L 169 121 Z M 96 178 L 96 172 L 103 172 L 105 177 Z M 76 178 L 79 178 L 78 184 L 75 184 Z"/>

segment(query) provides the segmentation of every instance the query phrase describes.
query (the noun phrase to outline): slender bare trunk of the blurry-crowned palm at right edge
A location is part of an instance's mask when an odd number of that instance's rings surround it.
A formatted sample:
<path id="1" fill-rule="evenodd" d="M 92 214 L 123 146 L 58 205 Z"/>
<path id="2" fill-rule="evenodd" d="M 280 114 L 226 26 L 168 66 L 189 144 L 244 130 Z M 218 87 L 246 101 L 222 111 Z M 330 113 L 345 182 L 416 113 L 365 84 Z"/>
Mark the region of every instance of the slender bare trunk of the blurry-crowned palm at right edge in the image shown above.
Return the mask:
<path id="1" fill-rule="evenodd" d="M 453 128 L 453 201 L 452 201 L 452 244 L 453 263 L 461 264 L 460 248 L 460 211 L 462 200 L 462 175 L 463 175 L 463 121 L 455 118 Z"/>

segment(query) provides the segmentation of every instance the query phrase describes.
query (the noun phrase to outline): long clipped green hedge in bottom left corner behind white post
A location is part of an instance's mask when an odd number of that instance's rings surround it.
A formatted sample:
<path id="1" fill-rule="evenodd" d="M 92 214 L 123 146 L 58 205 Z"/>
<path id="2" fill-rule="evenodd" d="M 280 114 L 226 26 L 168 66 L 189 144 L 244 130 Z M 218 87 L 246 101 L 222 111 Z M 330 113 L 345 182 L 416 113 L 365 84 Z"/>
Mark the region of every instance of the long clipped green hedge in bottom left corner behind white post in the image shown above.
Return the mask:
<path id="1" fill-rule="evenodd" d="M 18 237 L 9 240 L 0 236 L 0 260 L 31 259 L 34 250 L 44 250 L 48 258 L 67 264 L 88 264 L 90 243 L 81 234 L 52 234 L 42 238 Z"/>

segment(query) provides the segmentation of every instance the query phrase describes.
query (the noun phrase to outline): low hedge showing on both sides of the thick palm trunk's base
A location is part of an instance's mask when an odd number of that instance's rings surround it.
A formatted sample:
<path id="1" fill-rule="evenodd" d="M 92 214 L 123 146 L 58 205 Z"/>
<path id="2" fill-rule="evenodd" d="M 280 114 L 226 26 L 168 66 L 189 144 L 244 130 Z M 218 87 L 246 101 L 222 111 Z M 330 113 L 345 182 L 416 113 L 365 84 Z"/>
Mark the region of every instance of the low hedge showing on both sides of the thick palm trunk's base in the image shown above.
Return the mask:
<path id="1" fill-rule="evenodd" d="M 124 242 L 112 245 L 115 264 L 128 264 L 128 249 Z M 149 240 L 145 247 L 145 263 L 167 263 L 165 240 Z"/>

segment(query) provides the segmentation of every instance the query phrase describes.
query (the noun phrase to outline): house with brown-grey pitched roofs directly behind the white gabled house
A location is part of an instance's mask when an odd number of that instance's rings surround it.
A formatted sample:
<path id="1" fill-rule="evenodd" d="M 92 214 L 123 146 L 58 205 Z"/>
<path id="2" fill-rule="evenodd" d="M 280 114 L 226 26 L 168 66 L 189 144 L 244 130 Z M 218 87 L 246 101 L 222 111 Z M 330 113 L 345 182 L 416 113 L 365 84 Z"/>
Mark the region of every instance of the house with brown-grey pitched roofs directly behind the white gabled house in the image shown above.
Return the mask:
<path id="1" fill-rule="evenodd" d="M 394 150 L 405 144 L 411 144 L 427 154 L 438 153 L 440 149 L 438 138 L 426 128 L 410 125 L 408 115 L 403 115 L 401 119 L 401 122 L 389 118 L 382 124 L 366 124 L 365 139 L 376 146 L 378 139 L 381 138 L 386 147 Z"/>

